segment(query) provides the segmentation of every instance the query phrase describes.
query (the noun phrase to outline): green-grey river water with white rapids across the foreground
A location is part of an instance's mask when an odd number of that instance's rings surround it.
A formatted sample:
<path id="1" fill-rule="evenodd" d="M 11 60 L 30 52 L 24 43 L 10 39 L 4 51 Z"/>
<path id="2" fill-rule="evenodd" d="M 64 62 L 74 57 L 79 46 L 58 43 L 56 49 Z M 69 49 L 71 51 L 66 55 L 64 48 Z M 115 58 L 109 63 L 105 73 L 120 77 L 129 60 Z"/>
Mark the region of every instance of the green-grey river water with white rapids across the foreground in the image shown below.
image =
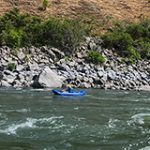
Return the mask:
<path id="1" fill-rule="evenodd" d="M 0 150 L 149 150 L 150 93 L 0 90 Z"/>

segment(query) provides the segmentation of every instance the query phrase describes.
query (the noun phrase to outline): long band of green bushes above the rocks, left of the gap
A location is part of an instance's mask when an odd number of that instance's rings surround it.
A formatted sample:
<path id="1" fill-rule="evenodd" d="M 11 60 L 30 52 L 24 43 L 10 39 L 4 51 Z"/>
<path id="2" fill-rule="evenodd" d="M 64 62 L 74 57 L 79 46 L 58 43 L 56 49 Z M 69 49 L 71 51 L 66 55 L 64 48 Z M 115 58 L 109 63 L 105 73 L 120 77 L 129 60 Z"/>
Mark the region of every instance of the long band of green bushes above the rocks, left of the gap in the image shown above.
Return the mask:
<path id="1" fill-rule="evenodd" d="M 48 45 L 73 52 L 87 30 L 78 20 L 49 18 L 21 14 L 14 8 L 0 18 L 0 45 L 12 48 Z"/>

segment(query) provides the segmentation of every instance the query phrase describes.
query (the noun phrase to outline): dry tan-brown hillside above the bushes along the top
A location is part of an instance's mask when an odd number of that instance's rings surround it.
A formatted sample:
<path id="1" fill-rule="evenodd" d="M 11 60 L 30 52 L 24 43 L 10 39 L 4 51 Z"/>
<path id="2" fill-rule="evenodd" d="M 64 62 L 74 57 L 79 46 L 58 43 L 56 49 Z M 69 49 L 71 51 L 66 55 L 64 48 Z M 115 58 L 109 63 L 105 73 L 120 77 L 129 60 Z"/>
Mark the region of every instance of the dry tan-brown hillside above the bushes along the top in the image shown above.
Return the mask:
<path id="1" fill-rule="evenodd" d="M 46 11 L 40 11 L 38 8 L 42 1 L 1 0 L 0 15 L 17 6 L 22 12 L 44 17 L 50 15 L 76 17 L 85 14 L 98 19 L 109 16 L 128 21 L 150 17 L 149 0 L 49 0 Z"/>

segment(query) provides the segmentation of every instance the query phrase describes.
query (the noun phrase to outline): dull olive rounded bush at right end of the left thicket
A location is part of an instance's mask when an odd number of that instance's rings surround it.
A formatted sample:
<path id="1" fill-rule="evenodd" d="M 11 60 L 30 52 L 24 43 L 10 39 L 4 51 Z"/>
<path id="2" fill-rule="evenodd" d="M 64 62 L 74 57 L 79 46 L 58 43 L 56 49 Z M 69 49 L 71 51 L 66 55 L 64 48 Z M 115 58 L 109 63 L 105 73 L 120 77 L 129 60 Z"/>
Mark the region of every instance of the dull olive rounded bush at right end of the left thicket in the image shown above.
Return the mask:
<path id="1" fill-rule="evenodd" d="M 84 28 L 76 20 L 50 18 L 42 25 L 38 38 L 42 44 L 51 45 L 73 52 L 86 34 Z"/>

